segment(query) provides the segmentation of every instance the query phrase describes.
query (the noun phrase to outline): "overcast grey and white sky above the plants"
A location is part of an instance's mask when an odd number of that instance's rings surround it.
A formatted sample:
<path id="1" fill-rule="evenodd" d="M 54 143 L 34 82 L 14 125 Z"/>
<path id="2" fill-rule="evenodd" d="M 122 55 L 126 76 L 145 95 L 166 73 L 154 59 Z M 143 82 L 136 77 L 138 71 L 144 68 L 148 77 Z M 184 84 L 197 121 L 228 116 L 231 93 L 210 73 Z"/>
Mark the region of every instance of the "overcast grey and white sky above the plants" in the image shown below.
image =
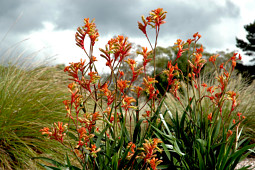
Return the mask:
<path id="1" fill-rule="evenodd" d="M 22 50 L 40 50 L 57 63 L 78 61 L 85 56 L 74 35 L 88 17 L 99 30 L 97 48 L 119 34 L 149 47 L 137 21 L 159 7 L 168 12 L 159 37 L 164 47 L 199 32 L 210 52 L 237 50 L 235 37 L 244 39 L 243 26 L 255 20 L 254 0 L 0 0 L 0 50 L 28 38 Z"/>

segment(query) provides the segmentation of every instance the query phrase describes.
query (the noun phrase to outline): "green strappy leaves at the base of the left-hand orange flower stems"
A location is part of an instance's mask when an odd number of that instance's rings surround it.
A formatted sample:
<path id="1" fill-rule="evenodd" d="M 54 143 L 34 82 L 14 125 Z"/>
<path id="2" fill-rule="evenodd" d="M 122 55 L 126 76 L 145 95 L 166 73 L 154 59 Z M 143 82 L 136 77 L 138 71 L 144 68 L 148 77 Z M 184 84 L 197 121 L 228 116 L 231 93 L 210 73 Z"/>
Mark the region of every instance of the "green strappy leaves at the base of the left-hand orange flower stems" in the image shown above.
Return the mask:
<path id="1" fill-rule="evenodd" d="M 156 113 L 158 113 L 156 111 Z M 152 126 L 158 127 L 158 123 L 156 122 L 157 115 L 150 119 Z M 55 165 L 48 166 L 46 164 L 41 164 L 46 169 L 63 169 L 68 167 L 69 169 L 129 169 L 129 167 L 133 167 L 134 169 L 143 169 L 145 166 L 145 162 L 142 159 L 136 158 L 142 150 L 137 149 L 131 156 L 131 148 L 129 147 L 129 143 L 132 142 L 136 145 L 136 148 L 143 148 L 143 142 L 146 138 L 151 138 L 154 136 L 153 129 L 148 130 L 146 132 L 143 131 L 141 125 L 145 119 L 140 119 L 138 122 L 135 121 L 136 117 L 134 115 L 134 133 L 130 134 L 129 129 L 126 127 L 126 123 L 124 118 L 120 120 L 121 131 L 119 137 L 116 139 L 110 139 L 105 132 L 108 131 L 110 134 L 114 135 L 114 131 L 111 125 L 107 125 L 101 133 L 96 133 L 96 138 L 93 143 L 96 144 L 97 148 L 101 148 L 100 154 L 97 154 L 96 157 L 88 157 L 87 161 L 92 161 L 93 164 L 89 166 L 88 162 L 80 162 L 80 167 L 75 167 L 71 164 L 68 164 L 68 156 L 66 156 L 66 163 L 60 163 L 55 161 L 54 159 L 49 159 L 47 157 L 35 157 L 33 159 L 44 160 L 50 164 Z M 80 149 L 86 150 L 85 147 Z M 88 152 L 89 153 L 89 152 Z M 80 160 L 80 159 L 79 159 Z M 81 161 L 81 160 L 80 160 Z M 103 165 L 103 166 L 102 166 Z"/>

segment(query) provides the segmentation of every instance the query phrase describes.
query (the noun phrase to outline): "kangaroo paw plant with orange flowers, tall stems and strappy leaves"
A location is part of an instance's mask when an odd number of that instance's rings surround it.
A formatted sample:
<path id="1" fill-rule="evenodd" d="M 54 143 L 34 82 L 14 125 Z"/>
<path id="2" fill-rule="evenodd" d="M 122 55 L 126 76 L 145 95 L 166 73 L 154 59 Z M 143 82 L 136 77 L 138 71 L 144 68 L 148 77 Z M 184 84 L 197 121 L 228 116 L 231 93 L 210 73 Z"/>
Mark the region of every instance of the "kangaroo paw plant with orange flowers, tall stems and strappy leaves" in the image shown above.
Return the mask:
<path id="1" fill-rule="evenodd" d="M 43 167 L 225 170 L 234 169 L 250 153 L 255 145 L 248 145 L 240 137 L 245 117 L 236 112 L 238 95 L 228 88 L 240 55 L 235 53 L 220 66 L 215 64 L 217 55 L 211 56 L 209 62 L 215 67 L 212 74 L 217 84 L 209 86 L 201 79 L 207 63 L 202 56 L 203 46 L 197 47 L 201 35 L 195 33 L 187 41 L 178 39 L 175 59 L 160 73 L 167 76 L 168 85 L 165 94 L 159 94 L 156 49 L 166 13 L 158 8 L 138 22 L 151 48 L 137 51 L 143 57 L 142 63 L 132 59 L 132 45 L 123 35 L 110 39 L 105 48 L 99 49 L 110 72 L 104 79 L 97 71 L 97 58 L 93 55 L 99 33 L 94 20 L 84 19 L 84 26 L 77 29 L 75 38 L 87 58 L 64 69 L 72 81 L 68 85 L 70 99 L 63 102 L 68 123 L 58 122 L 40 130 L 69 148 L 74 156 L 66 154 L 65 163 L 37 158 L 48 162 L 40 163 Z M 147 34 L 148 27 L 155 30 L 154 44 Z M 86 38 L 90 44 L 85 48 Z M 188 54 L 187 76 L 177 65 L 184 53 Z M 152 71 L 148 68 L 150 62 Z M 124 65 L 129 75 L 122 70 Z M 176 116 L 167 107 L 170 95 L 182 108 L 175 110 Z"/>

